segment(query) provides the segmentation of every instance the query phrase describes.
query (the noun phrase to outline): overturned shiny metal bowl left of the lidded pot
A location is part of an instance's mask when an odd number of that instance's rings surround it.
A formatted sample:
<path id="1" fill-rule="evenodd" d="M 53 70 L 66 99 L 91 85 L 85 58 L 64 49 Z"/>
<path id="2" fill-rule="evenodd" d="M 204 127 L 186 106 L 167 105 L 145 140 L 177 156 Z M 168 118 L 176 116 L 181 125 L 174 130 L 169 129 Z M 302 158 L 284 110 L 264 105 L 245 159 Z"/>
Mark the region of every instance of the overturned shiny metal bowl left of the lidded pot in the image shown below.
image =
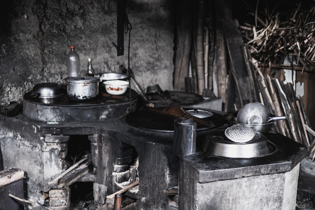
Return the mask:
<path id="1" fill-rule="evenodd" d="M 64 94 L 63 88 L 53 82 L 44 82 L 34 85 L 31 93 L 33 98 L 55 98 Z"/>

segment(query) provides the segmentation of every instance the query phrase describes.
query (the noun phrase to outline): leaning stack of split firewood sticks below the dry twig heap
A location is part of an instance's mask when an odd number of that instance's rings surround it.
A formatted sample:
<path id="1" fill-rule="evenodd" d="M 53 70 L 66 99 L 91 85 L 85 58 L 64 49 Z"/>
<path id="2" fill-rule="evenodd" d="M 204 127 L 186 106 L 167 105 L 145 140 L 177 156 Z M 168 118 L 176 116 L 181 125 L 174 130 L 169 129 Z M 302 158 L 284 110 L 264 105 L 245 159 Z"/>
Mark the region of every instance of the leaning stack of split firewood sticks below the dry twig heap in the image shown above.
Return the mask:
<path id="1" fill-rule="evenodd" d="M 264 104 L 270 113 L 286 116 L 285 121 L 274 123 L 272 130 L 281 133 L 308 147 L 309 158 L 315 159 L 315 132 L 311 129 L 308 116 L 300 96 L 296 96 L 292 83 L 280 81 L 278 78 L 264 77 L 257 65 L 255 80 L 258 83 L 259 102 Z"/>

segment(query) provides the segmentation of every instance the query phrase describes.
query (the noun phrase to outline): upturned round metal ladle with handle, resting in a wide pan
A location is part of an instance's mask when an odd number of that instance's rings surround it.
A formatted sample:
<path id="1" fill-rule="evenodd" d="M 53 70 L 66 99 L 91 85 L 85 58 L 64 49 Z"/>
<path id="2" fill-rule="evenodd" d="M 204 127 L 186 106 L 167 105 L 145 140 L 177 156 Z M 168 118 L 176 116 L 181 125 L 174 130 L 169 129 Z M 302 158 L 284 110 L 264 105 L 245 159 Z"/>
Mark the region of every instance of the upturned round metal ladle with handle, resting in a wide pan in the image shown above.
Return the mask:
<path id="1" fill-rule="evenodd" d="M 245 104 L 237 114 L 237 122 L 242 124 L 267 124 L 276 120 L 285 120 L 285 116 L 270 116 L 267 107 L 259 102 Z"/>

